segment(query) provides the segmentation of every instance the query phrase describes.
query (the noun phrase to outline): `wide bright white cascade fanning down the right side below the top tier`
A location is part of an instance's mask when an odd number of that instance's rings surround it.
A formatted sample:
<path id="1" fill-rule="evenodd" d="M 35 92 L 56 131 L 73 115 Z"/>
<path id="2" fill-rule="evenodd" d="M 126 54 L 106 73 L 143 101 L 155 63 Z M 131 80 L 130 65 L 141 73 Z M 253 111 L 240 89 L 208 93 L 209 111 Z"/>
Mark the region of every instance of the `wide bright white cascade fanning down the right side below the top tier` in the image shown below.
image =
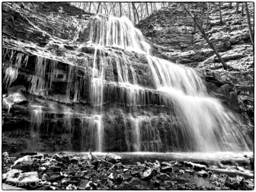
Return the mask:
<path id="1" fill-rule="evenodd" d="M 236 128 L 241 125 L 236 116 L 207 96 L 195 70 L 152 56 L 147 59 L 157 90 L 172 100 L 175 115 L 182 118 L 182 139 L 189 143 L 190 150 L 241 150 L 239 143 L 249 150 Z"/>

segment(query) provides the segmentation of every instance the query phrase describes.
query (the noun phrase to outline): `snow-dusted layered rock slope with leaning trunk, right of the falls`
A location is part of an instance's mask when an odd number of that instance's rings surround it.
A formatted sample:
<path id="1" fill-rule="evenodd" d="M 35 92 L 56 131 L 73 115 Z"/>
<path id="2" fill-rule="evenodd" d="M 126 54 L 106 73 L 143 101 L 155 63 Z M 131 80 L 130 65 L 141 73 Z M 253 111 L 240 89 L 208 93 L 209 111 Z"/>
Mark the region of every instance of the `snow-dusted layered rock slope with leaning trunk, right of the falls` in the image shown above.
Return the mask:
<path id="1" fill-rule="evenodd" d="M 198 68 L 204 74 L 209 94 L 220 99 L 232 111 L 242 114 L 241 118 L 249 125 L 253 124 L 253 47 L 245 12 L 241 17 L 242 3 L 239 3 L 239 14 L 236 14 L 234 3 L 231 9 L 229 3 L 221 3 L 223 24 L 220 23 L 216 3 L 210 3 L 208 21 L 206 3 L 187 3 L 185 6 L 196 16 L 230 67 L 228 70 L 223 70 L 193 20 L 179 4 L 163 8 L 141 20 L 138 28 L 155 48 L 157 56 Z M 248 3 L 248 8 L 253 26 L 253 3 Z"/>

